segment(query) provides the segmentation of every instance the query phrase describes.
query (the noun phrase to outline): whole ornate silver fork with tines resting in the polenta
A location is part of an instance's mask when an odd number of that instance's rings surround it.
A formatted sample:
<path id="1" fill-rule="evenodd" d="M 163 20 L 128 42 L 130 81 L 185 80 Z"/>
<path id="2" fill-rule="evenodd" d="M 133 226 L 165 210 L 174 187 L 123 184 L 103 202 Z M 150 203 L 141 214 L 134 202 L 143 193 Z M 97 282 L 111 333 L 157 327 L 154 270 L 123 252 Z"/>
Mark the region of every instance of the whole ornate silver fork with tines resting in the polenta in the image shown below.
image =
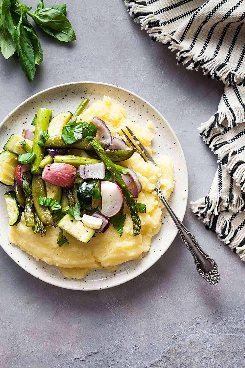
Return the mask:
<path id="1" fill-rule="evenodd" d="M 127 127 L 127 130 L 129 131 L 131 137 L 133 138 L 134 142 L 131 140 L 131 138 L 125 133 L 125 131 L 122 130 L 123 134 L 125 135 L 127 141 L 129 144 L 136 148 L 137 151 L 140 153 L 141 157 L 145 160 L 145 162 L 151 161 L 156 165 L 154 159 L 151 157 L 149 152 L 145 149 L 143 144 L 138 140 L 138 138 L 133 134 L 133 132 L 130 130 L 129 127 Z M 141 151 L 138 149 L 138 147 L 141 149 Z M 144 155 L 143 155 L 144 154 Z M 157 165 L 156 165 L 157 166 Z M 176 214 L 173 212 L 173 210 L 170 208 L 169 204 L 167 203 L 166 199 L 164 198 L 160 185 L 157 184 L 155 188 L 156 193 L 158 194 L 158 197 L 161 199 L 162 203 L 165 205 L 169 215 L 171 216 L 173 222 L 176 224 L 177 229 L 179 231 L 179 234 L 181 236 L 181 240 L 183 241 L 184 245 L 187 247 L 187 249 L 191 252 L 194 262 L 196 265 L 196 269 L 198 274 L 203 277 L 209 284 L 217 285 L 220 280 L 219 270 L 217 263 L 207 254 L 205 253 L 200 245 L 198 244 L 198 241 L 195 239 L 195 236 L 187 229 L 187 227 L 184 226 L 184 224 L 178 219 Z"/>

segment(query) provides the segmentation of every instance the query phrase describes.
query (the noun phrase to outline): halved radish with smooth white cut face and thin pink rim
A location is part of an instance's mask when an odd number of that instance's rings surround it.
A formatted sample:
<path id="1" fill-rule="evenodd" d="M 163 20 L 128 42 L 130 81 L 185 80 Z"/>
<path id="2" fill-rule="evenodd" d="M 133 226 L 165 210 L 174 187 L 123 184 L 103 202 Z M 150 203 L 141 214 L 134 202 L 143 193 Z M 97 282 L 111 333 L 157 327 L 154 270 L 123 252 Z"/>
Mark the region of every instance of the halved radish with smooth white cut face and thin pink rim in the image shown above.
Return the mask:
<path id="1" fill-rule="evenodd" d="M 101 181 L 101 213 L 107 217 L 116 215 L 123 204 L 123 194 L 119 186 L 111 181 Z"/>

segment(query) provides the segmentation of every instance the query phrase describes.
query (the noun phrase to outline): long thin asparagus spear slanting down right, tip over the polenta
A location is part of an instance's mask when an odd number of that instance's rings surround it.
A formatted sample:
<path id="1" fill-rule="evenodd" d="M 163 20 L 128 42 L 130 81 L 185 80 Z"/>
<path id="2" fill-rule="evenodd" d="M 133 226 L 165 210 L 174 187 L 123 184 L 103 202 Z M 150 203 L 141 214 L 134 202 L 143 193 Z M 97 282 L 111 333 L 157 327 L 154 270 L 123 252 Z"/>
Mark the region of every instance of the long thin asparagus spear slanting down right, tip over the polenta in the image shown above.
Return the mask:
<path id="1" fill-rule="evenodd" d="M 101 160 L 104 162 L 105 166 L 107 167 L 107 170 L 114 176 L 116 183 L 122 190 L 123 197 L 129 206 L 130 209 L 130 215 L 133 220 L 133 234 L 134 236 L 137 236 L 140 234 L 140 217 L 138 216 L 138 212 L 136 209 L 136 205 L 133 199 L 133 196 L 131 195 L 129 188 L 125 184 L 120 172 L 117 169 L 117 165 L 115 165 L 112 160 L 106 155 L 105 150 L 101 147 L 100 143 L 96 140 L 93 140 L 92 146 L 94 151 L 100 156 Z"/>

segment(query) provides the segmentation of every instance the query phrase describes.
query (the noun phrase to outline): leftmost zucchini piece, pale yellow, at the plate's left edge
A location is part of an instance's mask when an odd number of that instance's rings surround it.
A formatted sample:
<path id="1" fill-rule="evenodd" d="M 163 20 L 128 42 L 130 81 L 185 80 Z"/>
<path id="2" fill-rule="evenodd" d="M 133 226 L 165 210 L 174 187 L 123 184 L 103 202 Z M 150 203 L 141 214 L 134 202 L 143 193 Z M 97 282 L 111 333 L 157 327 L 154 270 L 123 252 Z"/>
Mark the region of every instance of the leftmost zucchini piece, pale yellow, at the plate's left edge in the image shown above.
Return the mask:
<path id="1" fill-rule="evenodd" d="M 0 181 L 5 185 L 14 185 L 14 173 L 18 165 L 18 156 L 10 151 L 0 153 Z"/>

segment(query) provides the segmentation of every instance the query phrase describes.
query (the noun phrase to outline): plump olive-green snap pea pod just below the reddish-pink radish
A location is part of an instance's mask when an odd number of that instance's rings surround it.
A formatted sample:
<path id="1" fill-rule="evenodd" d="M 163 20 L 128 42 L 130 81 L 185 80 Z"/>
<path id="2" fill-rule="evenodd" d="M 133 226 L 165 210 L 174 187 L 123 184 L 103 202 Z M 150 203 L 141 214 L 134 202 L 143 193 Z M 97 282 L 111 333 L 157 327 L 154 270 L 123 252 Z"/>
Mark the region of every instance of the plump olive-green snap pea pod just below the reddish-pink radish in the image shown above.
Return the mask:
<path id="1" fill-rule="evenodd" d="M 33 175 L 32 178 L 32 197 L 37 215 L 44 225 L 53 225 L 54 221 L 47 206 L 39 204 L 40 197 L 47 197 L 46 188 L 41 175 Z"/>

